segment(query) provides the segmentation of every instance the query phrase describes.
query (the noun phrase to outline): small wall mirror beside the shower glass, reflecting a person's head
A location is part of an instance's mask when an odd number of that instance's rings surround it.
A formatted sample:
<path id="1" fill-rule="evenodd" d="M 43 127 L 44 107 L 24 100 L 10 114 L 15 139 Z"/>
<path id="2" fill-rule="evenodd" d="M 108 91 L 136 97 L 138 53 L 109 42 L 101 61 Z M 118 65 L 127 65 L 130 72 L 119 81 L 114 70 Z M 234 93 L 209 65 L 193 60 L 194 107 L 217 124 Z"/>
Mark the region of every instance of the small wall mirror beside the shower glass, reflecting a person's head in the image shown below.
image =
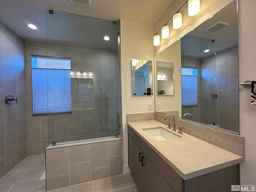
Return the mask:
<path id="1" fill-rule="evenodd" d="M 132 95 L 153 95 L 152 61 L 132 59 Z"/>

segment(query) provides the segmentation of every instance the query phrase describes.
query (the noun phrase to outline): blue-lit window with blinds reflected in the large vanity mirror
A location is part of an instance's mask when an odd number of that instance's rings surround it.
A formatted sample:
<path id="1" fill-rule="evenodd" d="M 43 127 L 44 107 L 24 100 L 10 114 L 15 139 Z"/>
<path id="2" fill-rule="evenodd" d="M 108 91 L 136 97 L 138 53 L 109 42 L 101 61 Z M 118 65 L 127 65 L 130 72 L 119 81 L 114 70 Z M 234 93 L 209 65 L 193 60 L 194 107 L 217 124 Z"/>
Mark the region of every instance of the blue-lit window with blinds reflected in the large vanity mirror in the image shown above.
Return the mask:
<path id="1" fill-rule="evenodd" d="M 181 68 L 182 107 L 198 107 L 198 69 Z"/>

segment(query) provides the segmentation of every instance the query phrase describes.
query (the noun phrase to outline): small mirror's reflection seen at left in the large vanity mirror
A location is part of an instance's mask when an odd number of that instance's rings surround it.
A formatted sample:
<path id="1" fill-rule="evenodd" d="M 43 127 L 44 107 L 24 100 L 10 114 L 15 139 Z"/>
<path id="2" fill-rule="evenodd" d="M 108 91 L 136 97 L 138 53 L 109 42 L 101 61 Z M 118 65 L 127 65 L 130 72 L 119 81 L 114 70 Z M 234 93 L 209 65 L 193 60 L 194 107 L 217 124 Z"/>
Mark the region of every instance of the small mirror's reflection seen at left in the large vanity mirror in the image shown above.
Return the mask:
<path id="1" fill-rule="evenodd" d="M 157 95 L 174 95 L 174 63 L 156 62 Z"/>

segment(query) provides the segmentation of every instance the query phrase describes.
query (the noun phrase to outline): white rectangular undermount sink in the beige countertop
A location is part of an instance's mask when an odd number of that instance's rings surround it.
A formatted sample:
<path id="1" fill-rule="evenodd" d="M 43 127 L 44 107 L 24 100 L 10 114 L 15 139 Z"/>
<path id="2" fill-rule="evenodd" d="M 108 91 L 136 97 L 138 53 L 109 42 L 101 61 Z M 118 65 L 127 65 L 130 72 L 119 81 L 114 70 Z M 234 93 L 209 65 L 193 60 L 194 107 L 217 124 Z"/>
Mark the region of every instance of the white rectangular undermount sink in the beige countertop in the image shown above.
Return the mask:
<path id="1" fill-rule="evenodd" d="M 148 128 L 143 130 L 157 141 L 164 141 L 181 137 L 162 127 Z"/>

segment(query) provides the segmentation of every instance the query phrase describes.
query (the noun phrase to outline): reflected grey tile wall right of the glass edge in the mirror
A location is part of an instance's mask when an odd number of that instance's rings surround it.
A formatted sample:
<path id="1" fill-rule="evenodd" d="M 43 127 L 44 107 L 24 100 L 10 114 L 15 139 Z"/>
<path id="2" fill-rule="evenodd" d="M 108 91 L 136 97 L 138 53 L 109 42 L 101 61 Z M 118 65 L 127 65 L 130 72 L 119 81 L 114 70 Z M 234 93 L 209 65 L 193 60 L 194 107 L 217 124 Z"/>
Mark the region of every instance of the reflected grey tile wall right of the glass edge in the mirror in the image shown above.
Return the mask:
<path id="1" fill-rule="evenodd" d="M 238 132 L 238 46 L 216 54 L 216 69 L 219 96 L 218 123 L 224 129 Z"/>

